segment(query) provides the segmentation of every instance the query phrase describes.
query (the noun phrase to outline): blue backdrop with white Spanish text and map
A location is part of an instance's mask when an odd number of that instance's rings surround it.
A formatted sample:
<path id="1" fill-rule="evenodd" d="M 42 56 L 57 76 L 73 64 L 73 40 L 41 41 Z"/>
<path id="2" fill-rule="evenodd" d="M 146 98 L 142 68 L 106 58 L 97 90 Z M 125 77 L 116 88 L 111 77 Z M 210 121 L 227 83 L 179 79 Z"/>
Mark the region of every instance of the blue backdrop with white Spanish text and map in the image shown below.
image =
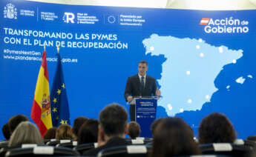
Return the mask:
<path id="1" fill-rule="evenodd" d="M 0 127 L 30 116 L 46 44 L 50 89 L 60 44 L 71 124 L 111 102 L 128 109 L 128 76 L 148 61 L 163 98 L 157 117 L 226 114 L 239 138 L 255 135 L 256 10 L 202 11 L 0 2 Z M 3 139 L 0 134 L 0 139 Z"/>

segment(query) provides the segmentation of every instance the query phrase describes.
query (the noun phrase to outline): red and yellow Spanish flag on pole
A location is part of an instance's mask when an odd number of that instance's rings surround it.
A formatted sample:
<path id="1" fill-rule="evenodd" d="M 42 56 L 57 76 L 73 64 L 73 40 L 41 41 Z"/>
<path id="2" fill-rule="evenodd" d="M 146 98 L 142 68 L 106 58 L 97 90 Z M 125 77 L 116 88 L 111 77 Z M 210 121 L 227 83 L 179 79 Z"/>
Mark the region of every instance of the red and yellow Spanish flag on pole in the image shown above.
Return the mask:
<path id="1" fill-rule="evenodd" d="M 39 127 L 42 136 L 53 126 L 50 113 L 50 88 L 45 51 L 42 54 L 42 65 L 36 82 L 31 118 Z"/>

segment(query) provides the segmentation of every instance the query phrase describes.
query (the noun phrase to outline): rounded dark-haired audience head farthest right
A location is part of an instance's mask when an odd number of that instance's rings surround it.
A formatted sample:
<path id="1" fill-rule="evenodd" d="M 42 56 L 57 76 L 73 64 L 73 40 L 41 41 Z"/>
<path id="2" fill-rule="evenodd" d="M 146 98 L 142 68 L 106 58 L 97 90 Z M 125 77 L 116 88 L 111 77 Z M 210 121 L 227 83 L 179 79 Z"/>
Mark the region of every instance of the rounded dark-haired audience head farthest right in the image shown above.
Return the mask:
<path id="1" fill-rule="evenodd" d="M 221 113 L 203 118 L 198 129 L 199 143 L 232 143 L 236 136 L 232 123 Z"/>

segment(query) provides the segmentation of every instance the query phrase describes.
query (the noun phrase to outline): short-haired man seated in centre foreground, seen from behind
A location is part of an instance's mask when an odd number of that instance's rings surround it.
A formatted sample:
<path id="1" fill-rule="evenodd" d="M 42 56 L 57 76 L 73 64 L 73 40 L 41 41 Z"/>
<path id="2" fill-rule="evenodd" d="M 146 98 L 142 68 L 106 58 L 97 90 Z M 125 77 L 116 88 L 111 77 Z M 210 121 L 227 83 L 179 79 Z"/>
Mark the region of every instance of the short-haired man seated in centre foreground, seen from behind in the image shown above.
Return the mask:
<path id="1" fill-rule="evenodd" d="M 119 104 L 110 104 L 99 113 L 98 147 L 85 151 L 83 156 L 96 156 L 108 147 L 127 145 L 125 133 L 128 130 L 128 114 Z"/>

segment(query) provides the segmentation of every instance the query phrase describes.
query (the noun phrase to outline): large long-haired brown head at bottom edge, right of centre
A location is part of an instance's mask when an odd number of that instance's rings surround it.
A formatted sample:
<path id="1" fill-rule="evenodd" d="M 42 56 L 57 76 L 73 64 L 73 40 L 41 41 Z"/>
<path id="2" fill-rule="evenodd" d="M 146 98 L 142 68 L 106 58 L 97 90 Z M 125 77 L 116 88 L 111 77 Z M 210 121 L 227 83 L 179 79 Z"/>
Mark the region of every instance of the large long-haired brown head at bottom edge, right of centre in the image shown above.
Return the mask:
<path id="1" fill-rule="evenodd" d="M 194 135 L 181 118 L 164 118 L 154 130 L 151 157 L 190 156 L 200 154 Z"/>

